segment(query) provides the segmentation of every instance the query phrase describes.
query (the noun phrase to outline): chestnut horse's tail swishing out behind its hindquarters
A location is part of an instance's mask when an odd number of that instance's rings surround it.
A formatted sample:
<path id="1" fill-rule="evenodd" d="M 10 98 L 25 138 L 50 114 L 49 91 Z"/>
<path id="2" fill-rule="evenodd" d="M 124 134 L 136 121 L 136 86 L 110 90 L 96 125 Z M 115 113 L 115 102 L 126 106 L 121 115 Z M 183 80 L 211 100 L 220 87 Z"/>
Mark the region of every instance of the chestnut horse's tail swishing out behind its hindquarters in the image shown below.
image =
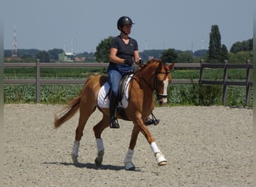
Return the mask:
<path id="1" fill-rule="evenodd" d="M 61 114 L 59 115 L 55 114 L 54 116 L 55 128 L 57 128 L 58 126 L 61 126 L 67 120 L 70 120 L 70 118 L 73 117 L 74 114 L 76 114 L 76 111 L 78 111 L 80 106 L 81 97 L 82 97 L 82 92 L 79 94 L 79 96 L 76 96 L 76 98 L 73 99 L 73 101 L 70 102 L 69 105 L 67 105 L 66 107 L 62 108 L 61 111 L 59 111 Z"/>

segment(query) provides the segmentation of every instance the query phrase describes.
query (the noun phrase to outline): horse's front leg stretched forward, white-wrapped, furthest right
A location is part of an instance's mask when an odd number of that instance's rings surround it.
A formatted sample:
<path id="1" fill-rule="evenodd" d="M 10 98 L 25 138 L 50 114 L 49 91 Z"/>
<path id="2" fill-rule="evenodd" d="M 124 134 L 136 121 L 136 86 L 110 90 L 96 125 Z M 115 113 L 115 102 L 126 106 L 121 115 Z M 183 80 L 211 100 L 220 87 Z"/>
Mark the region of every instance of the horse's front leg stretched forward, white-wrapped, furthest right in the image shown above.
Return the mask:
<path id="1" fill-rule="evenodd" d="M 144 125 L 143 120 L 138 119 L 138 120 L 135 120 L 133 123 L 138 126 L 141 133 L 144 135 L 145 138 L 147 138 L 147 142 L 150 144 L 150 147 L 153 150 L 154 156 L 156 158 L 157 165 L 159 165 L 159 166 L 167 165 L 165 156 L 162 154 L 162 152 L 157 147 L 156 141 L 153 138 L 153 135 L 151 135 L 151 133 L 147 129 L 147 126 Z"/>

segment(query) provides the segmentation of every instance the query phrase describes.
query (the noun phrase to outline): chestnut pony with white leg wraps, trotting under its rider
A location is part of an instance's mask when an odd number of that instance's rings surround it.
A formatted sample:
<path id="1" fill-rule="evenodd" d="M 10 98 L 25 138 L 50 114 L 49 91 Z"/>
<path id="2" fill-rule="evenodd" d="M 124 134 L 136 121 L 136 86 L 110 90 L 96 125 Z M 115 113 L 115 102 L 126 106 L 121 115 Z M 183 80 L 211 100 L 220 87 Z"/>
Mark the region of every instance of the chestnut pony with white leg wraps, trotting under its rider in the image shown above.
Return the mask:
<path id="1" fill-rule="evenodd" d="M 165 156 L 156 145 L 153 135 L 150 134 L 144 122 L 151 114 L 154 107 L 153 92 L 156 91 L 156 99 L 159 105 L 167 102 L 167 88 L 171 82 L 171 69 L 174 64 L 163 64 L 160 60 L 150 60 L 147 64 L 135 71 L 131 82 L 129 83 L 129 99 L 127 108 L 124 108 L 128 120 L 134 124 L 132 136 L 129 142 L 127 155 L 124 159 L 124 168 L 126 170 L 135 170 L 132 163 L 134 147 L 141 132 L 150 144 L 158 165 L 166 165 Z M 85 123 L 91 114 L 98 108 L 103 113 L 103 118 L 94 126 L 94 135 L 97 143 L 97 158 L 95 164 L 99 167 L 103 162 L 104 145 L 101 133 L 109 127 L 109 108 L 101 108 L 97 102 L 97 96 L 100 88 L 107 82 L 107 76 L 91 76 L 86 82 L 79 96 L 66 107 L 61 109 L 61 114 L 55 114 L 55 127 L 69 120 L 79 110 L 79 124 L 76 128 L 76 138 L 71 153 L 74 164 L 78 163 L 79 141 L 82 138 Z M 122 119 L 120 114 L 117 117 Z"/>

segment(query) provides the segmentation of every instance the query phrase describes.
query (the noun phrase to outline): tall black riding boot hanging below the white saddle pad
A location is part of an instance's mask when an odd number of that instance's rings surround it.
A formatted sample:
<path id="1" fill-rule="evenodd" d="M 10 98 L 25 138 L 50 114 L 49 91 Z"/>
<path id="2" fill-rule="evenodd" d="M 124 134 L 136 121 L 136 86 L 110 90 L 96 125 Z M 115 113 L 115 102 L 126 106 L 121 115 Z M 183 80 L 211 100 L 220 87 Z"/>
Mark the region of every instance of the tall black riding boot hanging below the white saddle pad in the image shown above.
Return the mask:
<path id="1" fill-rule="evenodd" d="M 110 128 L 119 129 L 118 119 L 115 117 L 115 108 L 118 105 L 118 97 L 114 93 L 109 98 Z"/>

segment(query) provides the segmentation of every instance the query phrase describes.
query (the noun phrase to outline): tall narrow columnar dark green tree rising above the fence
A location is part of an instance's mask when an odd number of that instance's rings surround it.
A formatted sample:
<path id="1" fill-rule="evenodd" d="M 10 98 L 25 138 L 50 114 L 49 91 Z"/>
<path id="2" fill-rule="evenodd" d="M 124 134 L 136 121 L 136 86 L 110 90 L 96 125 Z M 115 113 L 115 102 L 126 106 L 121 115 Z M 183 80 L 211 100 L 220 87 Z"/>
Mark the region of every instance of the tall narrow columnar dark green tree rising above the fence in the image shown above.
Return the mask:
<path id="1" fill-rule="evenodd" d="M 222 61 L 222 41 L 218 25 L 212 25 L 208 49 L 208 62 Z"/>

